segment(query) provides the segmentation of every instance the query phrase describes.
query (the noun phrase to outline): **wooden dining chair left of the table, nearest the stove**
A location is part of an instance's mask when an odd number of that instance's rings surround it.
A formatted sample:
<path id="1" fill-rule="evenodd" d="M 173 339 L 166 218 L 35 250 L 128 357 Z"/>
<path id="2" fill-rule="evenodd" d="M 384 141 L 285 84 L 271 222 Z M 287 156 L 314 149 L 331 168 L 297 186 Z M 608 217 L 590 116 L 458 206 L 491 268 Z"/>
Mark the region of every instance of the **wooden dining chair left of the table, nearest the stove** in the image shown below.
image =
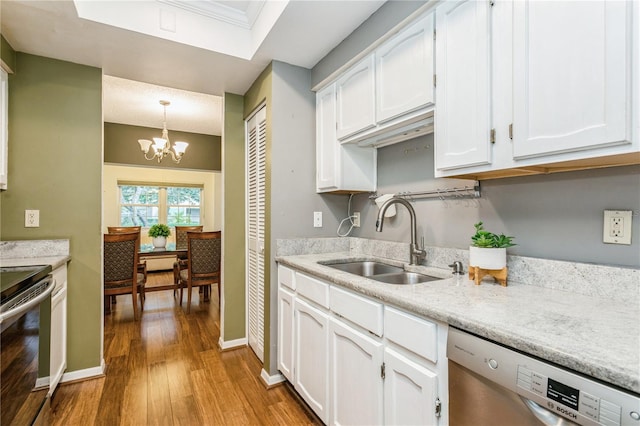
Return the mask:
<path id="1" fill-rule="evenodd" d="M 144 310 L 144 275 L 138 272 L 139 232 L 104 234 L 104 307 L 111 312 L 111 297 L 131 294 L 133 317 L 138 319 L 137 295 Z"/>

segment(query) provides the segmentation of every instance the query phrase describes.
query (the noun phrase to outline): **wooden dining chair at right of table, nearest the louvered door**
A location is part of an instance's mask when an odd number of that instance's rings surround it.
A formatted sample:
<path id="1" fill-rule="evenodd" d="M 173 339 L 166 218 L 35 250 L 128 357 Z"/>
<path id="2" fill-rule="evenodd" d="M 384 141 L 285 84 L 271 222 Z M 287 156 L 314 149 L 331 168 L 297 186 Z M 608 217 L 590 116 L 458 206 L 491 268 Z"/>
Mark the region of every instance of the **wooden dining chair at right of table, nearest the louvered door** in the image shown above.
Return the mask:
<path id="1" fill-rule="evenodd" d="M 220 301 L 220 257 L 221 231 L 187 232 L 187 269 L 180 271 L 180 305 L 182 292 L 187 288 L 187 313 L 191 312 L 191 290 L 193 287 L 211 288 L 218 284 Z M 206 297 L 206 292 L 205 292 Z"/>

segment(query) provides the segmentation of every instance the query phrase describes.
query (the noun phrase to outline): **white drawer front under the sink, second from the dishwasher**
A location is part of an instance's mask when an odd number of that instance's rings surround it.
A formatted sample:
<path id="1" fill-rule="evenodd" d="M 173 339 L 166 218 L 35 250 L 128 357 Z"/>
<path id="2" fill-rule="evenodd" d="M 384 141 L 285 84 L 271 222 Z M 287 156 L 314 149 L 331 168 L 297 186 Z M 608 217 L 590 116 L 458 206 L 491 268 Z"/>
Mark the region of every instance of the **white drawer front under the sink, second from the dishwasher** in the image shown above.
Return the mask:
<path id="1" fill-rule="evenodd" d="M 331 287 L 331 310 L 376 336 L 382 336 L 381 303 Z"/>

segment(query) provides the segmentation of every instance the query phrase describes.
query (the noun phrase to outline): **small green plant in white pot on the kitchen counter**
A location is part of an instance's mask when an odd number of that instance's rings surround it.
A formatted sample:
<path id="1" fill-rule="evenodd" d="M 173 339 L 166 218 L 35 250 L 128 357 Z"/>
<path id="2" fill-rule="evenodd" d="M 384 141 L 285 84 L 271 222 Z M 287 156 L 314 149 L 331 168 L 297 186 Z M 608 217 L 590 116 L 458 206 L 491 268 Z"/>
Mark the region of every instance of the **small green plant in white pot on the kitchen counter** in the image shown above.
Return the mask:
<path id="1" fill-rule="evenodd" d="M 490 270 L 502 269 L 507 266 L 507 247 L 515 246 L 514 237 L 486 231 L 482 222 L 473 226 L 476 228 L 476 233 L 471 237 L 469 266 Z"/>

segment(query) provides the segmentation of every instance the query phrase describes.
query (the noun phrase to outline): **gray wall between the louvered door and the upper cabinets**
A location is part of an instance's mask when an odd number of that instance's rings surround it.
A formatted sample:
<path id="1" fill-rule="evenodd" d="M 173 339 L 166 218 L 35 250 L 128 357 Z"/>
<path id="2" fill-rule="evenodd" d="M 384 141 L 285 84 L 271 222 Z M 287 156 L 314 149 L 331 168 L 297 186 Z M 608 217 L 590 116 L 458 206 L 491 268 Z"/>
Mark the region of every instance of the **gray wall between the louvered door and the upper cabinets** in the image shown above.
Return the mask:
<path id="1" fill-rule="evenodd" d="M 332 211 L 341 211 L 343 196 L 321 197 L 315 193 L 315 93 L 311 71 L 272 63 L 271 109 L 271 253 L 279 238 L 334 236 L 338 226 Z M 322 211 L 324 226 L 313 227 L 313 212 Z M 270 323 L 277 324 L 278 269 L 271 258 Z M 277 371 L 277 327 L 271 337 L 268 368 Z M 266 339 L 265 339 L 266 341 Z"/>

